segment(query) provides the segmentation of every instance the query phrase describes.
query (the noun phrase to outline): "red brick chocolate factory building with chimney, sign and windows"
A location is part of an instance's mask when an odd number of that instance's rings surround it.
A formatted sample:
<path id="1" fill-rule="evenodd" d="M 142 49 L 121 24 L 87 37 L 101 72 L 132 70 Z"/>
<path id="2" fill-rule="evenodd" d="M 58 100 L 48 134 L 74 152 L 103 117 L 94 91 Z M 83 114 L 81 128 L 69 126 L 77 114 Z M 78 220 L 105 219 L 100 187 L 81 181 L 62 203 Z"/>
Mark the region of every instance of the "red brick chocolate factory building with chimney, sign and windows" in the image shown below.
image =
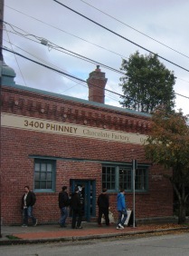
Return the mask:
<path id="1" fill-rule="evenodd" d="M 36 193 L 39 222 L 57 222 L 58 192 L 82 187 L 84 218 L 97 216 L 97 196 L 109 190 L 117 218 L 119 186 L 132 209 L 131 161 L 137 159 L 136 217 L 173 215 L 173 190 L 162 167 L 146 161 L 143 143 L 150 116 L 104 103 L 105 74 L 90 74 L 89 101 L 14 83 L 14 71 L 3 64 L 1 116 L 1 206 L 4 224 L 19 224 L 24 185 Z"/>

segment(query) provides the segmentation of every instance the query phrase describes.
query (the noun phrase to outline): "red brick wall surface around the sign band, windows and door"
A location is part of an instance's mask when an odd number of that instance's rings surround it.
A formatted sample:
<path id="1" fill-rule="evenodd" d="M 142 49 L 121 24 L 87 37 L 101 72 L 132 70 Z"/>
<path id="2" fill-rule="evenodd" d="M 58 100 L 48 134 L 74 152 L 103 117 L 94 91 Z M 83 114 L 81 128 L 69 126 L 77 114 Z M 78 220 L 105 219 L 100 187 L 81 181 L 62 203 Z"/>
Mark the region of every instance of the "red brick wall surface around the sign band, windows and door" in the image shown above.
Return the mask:
<path id="1" fill-rule="evenodd" d="M 42 109 L 44 112 L 42 112 Z M 84 103 L 3 88 L 2 112 L 32 116 L 66 123 L 84 124 L 107 129 L 147 133 L 150 120 L 146 117 L 116 110 L 100 109 Z M 86 123 L 85 122 L 85 123 Z M 6 224 L 20 223 L 21 197 L 24 185 L 33 189 L 33 159 L 29 155 L 61 158 L 80 158 L 97 161 L 147 162 L 142 145 L 39 133 L 2 127 L 2 217 Z M 136 193 L 137 218 L 170 216 L 173 214 L 173 190 L 162 176 L 160 166 L 149 168 L 149 190 Z M 62 185 L 70 186 L 70 179 L 96 181 L 97 196 L 101 192 L 101 164 L 57 160 L 56 192 L 37 193 L 34 213 L 39 222 L 56 222 L 60 212 L 58 192 Z M 116 196 L 110 194 L 110 204 L 117 217 Z M 128 208 L 132 208 L 132 193 L 127 193 Z"/>

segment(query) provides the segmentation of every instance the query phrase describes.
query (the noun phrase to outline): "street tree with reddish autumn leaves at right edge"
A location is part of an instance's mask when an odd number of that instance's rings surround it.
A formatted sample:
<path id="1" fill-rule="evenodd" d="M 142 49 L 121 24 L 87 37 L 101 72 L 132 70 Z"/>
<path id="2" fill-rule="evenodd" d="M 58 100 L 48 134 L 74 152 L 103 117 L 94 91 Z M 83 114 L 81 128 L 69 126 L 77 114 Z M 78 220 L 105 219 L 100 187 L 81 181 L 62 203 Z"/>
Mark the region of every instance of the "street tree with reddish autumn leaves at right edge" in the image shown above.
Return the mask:
<path id="1" fill-rule="evenodd" d="M 145 145 L 146 158 L 173 174 L 165 177 L 172 183 L 178 199 L 178 223 L 185 222 L 189 186 L 189 127 L 183 113 L 165 114 L 157 110 L 152 116 L 152 128 Z"/>

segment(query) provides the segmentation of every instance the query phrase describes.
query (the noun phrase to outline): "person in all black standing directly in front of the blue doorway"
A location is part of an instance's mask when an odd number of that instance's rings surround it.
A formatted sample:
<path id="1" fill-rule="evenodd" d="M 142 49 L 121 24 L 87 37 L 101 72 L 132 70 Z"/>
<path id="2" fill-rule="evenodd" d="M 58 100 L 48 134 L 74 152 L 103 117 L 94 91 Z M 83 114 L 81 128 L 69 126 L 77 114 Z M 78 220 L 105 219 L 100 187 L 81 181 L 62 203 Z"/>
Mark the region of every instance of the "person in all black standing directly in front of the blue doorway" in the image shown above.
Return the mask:
<path id="1" fill-rule="evenodd" d="M 82 229 L 80 226 L 82 222 L 82 203 L 80 202 L 80 191 L 78 187 L 75 188 L 75 192 L 71 195 L 71 212 L 71 229 Z"/>

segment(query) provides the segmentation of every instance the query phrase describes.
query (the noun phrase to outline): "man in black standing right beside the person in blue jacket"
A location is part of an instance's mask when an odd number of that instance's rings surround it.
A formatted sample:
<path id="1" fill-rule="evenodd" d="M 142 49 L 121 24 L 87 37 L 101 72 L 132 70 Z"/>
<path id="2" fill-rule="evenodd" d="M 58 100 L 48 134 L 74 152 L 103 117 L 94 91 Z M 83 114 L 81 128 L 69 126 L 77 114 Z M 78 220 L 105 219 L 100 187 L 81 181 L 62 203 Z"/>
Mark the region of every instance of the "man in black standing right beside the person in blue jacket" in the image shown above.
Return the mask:
<path id="1" fill-rule="evenodd" d="M 107 189 L 104 188 L 102 193 L 99 194 L 97 204 L 99 206 L 99 217 L 98 224 L 101 226 L 101 217 L 104 214 L 106 225 L 109 226 L 109 195 L 107 194 Z"/>

